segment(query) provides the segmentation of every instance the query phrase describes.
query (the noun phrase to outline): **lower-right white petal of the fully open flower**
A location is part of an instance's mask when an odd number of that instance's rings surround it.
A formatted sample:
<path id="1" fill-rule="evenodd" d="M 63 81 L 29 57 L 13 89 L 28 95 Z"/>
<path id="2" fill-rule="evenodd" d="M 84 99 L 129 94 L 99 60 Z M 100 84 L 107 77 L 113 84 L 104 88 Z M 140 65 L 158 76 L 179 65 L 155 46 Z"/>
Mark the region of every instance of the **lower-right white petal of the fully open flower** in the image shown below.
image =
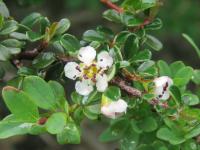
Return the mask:
<path id="1" fill-rule="evenodd" d="M 96 83 L 97 91 L 104 92 L 108 87 L 107 75 L 106 74 L 97 75 L 96 79 L 97 79 L 97 83 Z"/>

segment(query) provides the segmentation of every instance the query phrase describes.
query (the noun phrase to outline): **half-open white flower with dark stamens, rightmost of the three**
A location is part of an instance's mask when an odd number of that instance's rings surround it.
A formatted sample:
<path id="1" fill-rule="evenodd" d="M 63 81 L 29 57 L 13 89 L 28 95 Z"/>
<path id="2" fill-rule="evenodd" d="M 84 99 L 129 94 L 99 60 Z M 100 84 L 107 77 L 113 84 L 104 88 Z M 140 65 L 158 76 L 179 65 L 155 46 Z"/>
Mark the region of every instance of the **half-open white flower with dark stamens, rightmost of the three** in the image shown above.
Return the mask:
<path id="1" fill-rule="evenodd" d="M 168 76 L 162 76 L 154 79 L 154 94 L 160 100 L 167 100 L 170 97 L 169 88 L 173 85 L 173 80 Z"/>

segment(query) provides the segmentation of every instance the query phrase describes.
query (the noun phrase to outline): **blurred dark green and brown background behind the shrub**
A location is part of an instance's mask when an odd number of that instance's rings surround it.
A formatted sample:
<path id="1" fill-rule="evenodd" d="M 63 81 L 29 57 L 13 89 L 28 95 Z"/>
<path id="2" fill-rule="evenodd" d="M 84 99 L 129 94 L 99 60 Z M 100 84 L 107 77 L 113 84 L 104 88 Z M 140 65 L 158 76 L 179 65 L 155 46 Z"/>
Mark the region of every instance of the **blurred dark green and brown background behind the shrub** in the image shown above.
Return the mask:
<path id="1" fill-rule="evenodd" d="M 97 25 L 109 25 L 101 14 L 106 9 L 99 0 L 5 0 L 11 15 L 18 21 L 31 12 L 40 12 L 51 21 L 69 18 L 72 26 L 70 33 L 81 38 L 84 31 Z M 164 45 L 159 53 L 154 53 L 154 59 L 164 59 L 171 63 L 182 60 L 186 65 L 200 68 L 200 61 L 192 47 L 184 40 L 182 33 L 190 35 L 200 45 L 200 1 L 199 0 L 165 0 L 159 17 L 163 20 L 163 28 L 154 31 Z M 0 117 L 4 110 L 0 103 Z M 1 119 L 0 118 L 0 119 Z M 81 145 L 60 146 L 49 135 L 20 136 L 0 140 L 0 150 L 115 150 L 116 143 L 104 144 L 98 142 L 98 135 L 106 126 L 96 122 L 83 122 L 83 137 Z"/>

